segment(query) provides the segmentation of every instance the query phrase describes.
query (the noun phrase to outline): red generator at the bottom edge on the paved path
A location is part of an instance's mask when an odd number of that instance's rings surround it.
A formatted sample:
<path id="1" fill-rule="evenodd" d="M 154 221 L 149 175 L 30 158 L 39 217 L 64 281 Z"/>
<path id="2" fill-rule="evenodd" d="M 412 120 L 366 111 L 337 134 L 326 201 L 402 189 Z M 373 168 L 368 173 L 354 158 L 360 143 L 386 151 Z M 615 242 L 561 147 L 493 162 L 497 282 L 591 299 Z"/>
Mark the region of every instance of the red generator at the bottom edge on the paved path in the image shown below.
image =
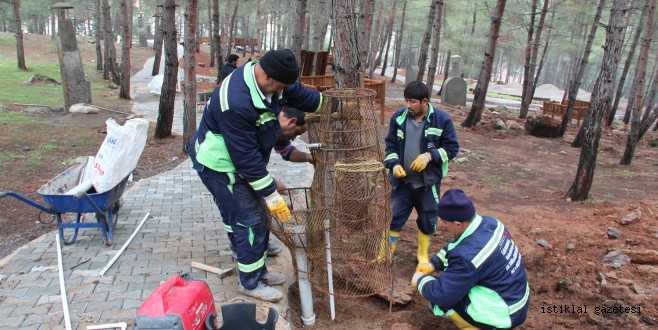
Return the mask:
<path id="1" fill-rule="evenodd" d="M 215 313 L 208 284 L 172 276 L 146 298 L 137 310 L 134 329 L 206 329 L 206 318 Z"/>

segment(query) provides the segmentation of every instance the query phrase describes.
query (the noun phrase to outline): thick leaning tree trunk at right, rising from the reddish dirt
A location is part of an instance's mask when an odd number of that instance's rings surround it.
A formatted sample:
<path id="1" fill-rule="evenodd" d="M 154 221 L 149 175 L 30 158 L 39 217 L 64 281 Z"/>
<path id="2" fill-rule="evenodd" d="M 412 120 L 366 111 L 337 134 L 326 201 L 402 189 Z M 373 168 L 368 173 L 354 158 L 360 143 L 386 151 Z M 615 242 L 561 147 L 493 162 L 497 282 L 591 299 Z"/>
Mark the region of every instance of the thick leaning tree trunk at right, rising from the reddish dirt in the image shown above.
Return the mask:
<path id="1" fill-rule="evenodd" d="M 582 201 L 587 199 L 594 179 L 596 158 L 601 140 L 603 117 L 610 106 L 613 83 L 617 73 L 617 65 L 623 47 L 624 30 L 628 20 L 624 12 L 628 0 L 614 0 L 610 10 L 610 19 L 606 27 L 605 51 L 599 76 L 594 84 L 589 111 L 583 133 L 583 146 L 580 150 L 580 160 L 576 178 L 565 197 Z M 589 122 L 589 123 L 587 123 Z"/>

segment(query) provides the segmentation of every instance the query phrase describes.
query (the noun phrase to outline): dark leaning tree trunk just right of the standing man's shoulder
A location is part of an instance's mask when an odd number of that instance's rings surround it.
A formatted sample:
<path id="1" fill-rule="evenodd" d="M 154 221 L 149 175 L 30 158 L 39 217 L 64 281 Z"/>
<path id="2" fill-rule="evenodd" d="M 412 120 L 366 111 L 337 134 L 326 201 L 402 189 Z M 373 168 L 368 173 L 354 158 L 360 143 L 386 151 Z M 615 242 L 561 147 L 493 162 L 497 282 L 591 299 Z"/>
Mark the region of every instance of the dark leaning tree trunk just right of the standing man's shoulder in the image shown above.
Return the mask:
<path id="1" fill-rule="evenodd" d="M 493 67 L 493 60 L 496 54 L 496 43 L 500 36 L 500 25 L 503 22 L 503 14 L 505 12 L 506 0 L 497 0 L 496 9 L 491 17 L 491 27 L 489 28 L 489 41 L 487 48 L 484 52 L 484 60 L 482 61 L 482 69 L 478 77 L 477 85 L 473 91 L 473 104 L 471 111 L 469 111 L 466 120 L 462 123 L 463 127 L 472 127 L 480 122 L 482 110 L 484 109 L 484 99 L 489 89 L 489 78 L 491 77 L 491 68 Z"/>

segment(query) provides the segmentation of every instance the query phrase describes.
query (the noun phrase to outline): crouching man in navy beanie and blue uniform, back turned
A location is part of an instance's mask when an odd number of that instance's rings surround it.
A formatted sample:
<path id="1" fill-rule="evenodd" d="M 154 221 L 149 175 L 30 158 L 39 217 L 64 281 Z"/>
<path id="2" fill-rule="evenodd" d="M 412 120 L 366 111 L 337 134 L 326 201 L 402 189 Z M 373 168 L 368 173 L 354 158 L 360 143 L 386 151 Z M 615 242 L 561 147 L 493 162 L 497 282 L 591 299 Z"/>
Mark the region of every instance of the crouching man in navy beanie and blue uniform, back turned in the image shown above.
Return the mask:
<path id="1" fill-rule="evenodd" d="M 430 259 L 441 271 L 434 277 L 416 272 L 412 285 L 430 302 L 436 316 L 460 329 L 509 329 L 528 315 L 530 287 L 512 235 L 495 218 L 475 213 L 459 189 L 446 191 L 438 213 L 454 241 Z"/>

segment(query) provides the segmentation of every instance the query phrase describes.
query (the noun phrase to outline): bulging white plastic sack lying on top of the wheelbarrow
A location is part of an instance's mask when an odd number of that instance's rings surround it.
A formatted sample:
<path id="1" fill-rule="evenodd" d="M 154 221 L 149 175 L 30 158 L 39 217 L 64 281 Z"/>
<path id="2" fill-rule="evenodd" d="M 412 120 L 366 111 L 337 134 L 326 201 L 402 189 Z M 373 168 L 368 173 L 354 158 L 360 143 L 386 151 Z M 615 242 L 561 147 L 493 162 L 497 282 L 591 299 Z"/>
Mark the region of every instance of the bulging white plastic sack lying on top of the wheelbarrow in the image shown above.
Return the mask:
<path id="1" fill-rule="evenodd" d="M 137 167 L 149 127 L 142 118 L 130 119 L 123 126 L 110 118 L 106 124 L 107 136 L 93 166 L 92 184 L 98 193 L 114 188 Z"/>

